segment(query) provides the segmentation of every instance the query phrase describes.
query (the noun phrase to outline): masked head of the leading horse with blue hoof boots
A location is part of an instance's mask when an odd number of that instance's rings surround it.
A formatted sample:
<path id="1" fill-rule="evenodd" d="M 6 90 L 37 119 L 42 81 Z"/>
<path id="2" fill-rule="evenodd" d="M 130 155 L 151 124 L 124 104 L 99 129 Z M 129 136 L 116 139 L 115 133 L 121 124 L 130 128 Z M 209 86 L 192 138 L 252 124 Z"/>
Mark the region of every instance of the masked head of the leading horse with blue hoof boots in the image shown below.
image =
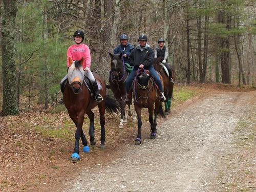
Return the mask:
<path id="1" fill-rule="evenodd" d="M 83 57 L 81 60 L 73 61 L 69 57 L 69 69 L 68 69 L 68 80 L 70 87 L 73 90 L 73 93 L 78 94 L 82 89 L 82 82 L 83 82 L 83 68 L 82 68 L 82 63 L 83 63 Z"/>

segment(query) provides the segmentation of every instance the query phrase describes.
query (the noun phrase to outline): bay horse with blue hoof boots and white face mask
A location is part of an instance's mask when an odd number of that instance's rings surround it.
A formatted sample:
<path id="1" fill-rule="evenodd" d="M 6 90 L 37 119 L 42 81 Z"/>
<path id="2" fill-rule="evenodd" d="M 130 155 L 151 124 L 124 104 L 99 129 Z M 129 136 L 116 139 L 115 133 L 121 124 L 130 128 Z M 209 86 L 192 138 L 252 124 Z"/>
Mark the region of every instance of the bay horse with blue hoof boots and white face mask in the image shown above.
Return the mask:
<path id="1" fill-rule="evenodd" d="M 80 61 L 72 61 L 69 58 L 68 80 L 66 87 L 63 91 L 63 102 L 68 110 L 70 118 L 76 125 L 75 133 L 75 148 L 74 153 L 71 156 L 72 162 L 77 162 L 79 159 L 79 140 L 81 138 L 84 145 L 83 151 L 89 152 L 90 147 L 86 136 L 83 134 L 82 125 L 84 120 L 84 114 L 87 114 L 90 119 L 89 135 L 91 145 L 96 144 L 94 137 L 94 113 L 92 109 L 98 105 L 100 115 L 100 147 L 105 147 L 105 109 L 108 112 L 117 112 L 118 103 L 114 99 L 106 97 L 105 81 L 96 73 L 93 73 L 95 79 L 98 81 L 99 93 L 103 97 L 103 101 L 97 103 L 94 95 L 92 96 L 86 83 L 84 82 L 84 71 L 82 68 L 83 58 Z M 92 90 L 92 89 L 91 89 Z"/>

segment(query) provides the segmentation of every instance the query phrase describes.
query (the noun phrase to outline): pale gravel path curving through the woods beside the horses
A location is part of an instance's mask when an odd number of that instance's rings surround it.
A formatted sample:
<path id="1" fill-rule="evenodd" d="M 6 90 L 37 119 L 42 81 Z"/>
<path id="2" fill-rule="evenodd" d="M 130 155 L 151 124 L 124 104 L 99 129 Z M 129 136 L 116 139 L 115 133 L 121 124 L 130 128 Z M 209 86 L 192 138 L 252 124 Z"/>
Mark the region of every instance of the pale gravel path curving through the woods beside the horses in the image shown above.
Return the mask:
<path id="1" fill-rule="evenodd" d="M 194 101 L 159 123 L 156 139 L 148 135 L 139 146 L 132 140 L 113 161 L 84 168 L 63 191 L 215 191 L 222 159 L 233 153 L 240 116 L 255 112 L 256 92 Z"/>

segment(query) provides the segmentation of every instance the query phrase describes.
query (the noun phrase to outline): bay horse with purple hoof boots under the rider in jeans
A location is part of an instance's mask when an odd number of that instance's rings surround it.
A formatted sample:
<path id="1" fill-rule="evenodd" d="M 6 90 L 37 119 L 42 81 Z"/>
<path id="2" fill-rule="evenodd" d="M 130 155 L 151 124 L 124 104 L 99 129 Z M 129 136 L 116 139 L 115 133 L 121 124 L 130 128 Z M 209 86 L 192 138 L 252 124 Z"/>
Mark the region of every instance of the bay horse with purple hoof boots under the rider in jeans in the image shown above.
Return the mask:
<path id="1" fill-rule="evenodd" d="M 137 75 L 133 81 L 133 96 L 134 96 L 134 108 L 138 117 L 138 135 L 135 140 L 135 144 L 141 144 L 141 109 L 147 108 L 151 126 L 151 139 L 156 138 L 157 133 L 157 115 L 165 118 L 163 113 L 162 105 L 159 100 L 159 94 L 157 93 L 156 83 L 153 81 L 153 78 L 148 74 L 147 70 L 138 69 Z M 161 75 L 159 75 L 162 81 Z M 155 108 L 154 108 L 155 103 Z M 154 120 L 153 120 L 153 111 L 154 111 Z"/>

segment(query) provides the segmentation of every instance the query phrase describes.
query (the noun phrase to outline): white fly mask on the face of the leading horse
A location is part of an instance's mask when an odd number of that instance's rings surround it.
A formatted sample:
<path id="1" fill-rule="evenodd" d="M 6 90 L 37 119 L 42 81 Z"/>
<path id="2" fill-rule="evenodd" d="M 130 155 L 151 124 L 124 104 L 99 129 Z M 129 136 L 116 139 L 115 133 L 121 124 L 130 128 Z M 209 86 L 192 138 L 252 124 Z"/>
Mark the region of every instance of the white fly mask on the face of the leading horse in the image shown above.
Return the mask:
<path id="1" fill-rule="evenodd" d="M 68 70 L 69 84 L 72 84 L 75 81 L 80 82 L 82 84 L 83 75 L 84 75 L 84 72 L 83 72 L 82 66 L 79 67 L 79 69 L 76 69 L 75 61 L 73 61 L 72 65 L 69 67 L 69 70 Z"/>

